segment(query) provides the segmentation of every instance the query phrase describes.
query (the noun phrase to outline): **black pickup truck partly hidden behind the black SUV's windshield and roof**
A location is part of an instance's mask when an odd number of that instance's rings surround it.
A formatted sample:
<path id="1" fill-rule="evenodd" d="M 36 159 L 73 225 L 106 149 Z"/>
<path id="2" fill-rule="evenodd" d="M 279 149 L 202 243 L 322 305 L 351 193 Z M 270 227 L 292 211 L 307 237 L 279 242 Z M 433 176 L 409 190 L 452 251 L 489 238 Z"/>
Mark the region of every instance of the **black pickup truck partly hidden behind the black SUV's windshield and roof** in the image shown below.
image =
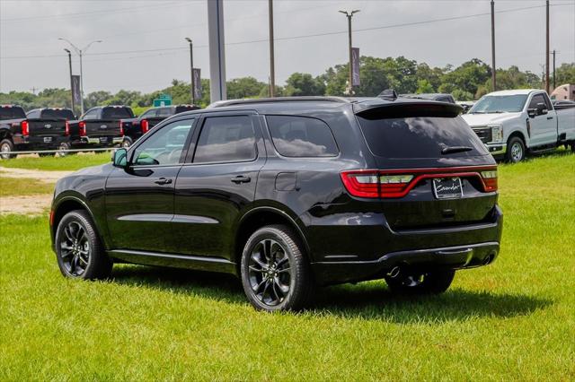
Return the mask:
<path id="1" fill-rule="evenodd" d="M 124 130 L 123 147 L 129 147 L 136 142 L 137 138 L 145 135 L 152 127 L 162 122 L 167 117 L 179 114 L 184 111 L 199 109 L 195 105 L 174 105 L 160 108 L 147 109 L 141 116 L 129 119 L 122 119 L 121 124 Z"/>

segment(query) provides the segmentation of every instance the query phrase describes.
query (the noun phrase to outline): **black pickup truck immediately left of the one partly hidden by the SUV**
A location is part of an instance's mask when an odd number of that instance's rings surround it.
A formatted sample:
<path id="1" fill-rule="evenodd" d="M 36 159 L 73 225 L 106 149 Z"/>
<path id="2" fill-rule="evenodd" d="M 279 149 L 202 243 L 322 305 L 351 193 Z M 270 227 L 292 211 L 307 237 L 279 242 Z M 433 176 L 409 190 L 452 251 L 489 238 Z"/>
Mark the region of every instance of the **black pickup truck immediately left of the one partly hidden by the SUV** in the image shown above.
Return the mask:
<path id="1" fill-rule="evenodd" d="M 89 109 L 70 125 L 72 144 L 75 147 L 109 147 L 122 143 L 122 119 L 133 118 L 128 106 L 98 106 Z"/>

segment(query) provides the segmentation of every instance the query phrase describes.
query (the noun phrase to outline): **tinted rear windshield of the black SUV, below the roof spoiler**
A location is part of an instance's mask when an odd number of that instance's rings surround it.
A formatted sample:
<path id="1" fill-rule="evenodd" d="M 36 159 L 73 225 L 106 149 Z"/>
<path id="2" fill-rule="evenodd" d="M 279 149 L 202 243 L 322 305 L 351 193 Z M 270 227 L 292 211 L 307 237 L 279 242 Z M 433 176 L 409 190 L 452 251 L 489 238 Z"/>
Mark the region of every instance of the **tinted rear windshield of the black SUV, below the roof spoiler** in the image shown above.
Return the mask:
<path id="1" fill-rule="evenodd" d="M 371 152 L 386 158 L 452 158 L 488 152 L 462 117 L 358 116 Z M 464 151 L 444 151 L 464 147 Z"/>

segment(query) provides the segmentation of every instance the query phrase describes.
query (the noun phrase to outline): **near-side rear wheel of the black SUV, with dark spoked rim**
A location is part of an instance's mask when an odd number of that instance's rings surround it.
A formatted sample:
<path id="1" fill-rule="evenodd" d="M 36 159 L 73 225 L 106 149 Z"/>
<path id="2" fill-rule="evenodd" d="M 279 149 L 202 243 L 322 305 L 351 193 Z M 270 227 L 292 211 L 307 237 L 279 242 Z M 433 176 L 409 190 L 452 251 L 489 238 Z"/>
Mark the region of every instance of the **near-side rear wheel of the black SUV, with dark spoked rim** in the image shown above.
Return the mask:
<path id="1" fill-rule="evenodd" d="M 240 273 L 243 291 L 259 310 L 299 310 L 314 291 L 304 247 L 283 225 L 263 227 L 252 234 L 243 247 Z"/>

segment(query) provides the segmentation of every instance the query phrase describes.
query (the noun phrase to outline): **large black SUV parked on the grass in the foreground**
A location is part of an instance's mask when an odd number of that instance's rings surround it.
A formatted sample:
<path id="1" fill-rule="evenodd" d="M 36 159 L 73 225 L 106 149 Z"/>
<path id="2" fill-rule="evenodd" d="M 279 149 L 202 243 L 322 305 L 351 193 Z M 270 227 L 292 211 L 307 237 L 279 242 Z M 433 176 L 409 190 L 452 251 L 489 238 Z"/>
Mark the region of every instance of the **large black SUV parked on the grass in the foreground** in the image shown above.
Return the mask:
<path id="1" fill-rule="evenodd" d="M 234 273 L 255 308 L 385 279 L 440 293 L 498 255 L 497 167 L 461 108 L 432 100 L 231 100 L 170 117 L 112 163 L 57 182 L 66 277 L 113 263 Z"/>

